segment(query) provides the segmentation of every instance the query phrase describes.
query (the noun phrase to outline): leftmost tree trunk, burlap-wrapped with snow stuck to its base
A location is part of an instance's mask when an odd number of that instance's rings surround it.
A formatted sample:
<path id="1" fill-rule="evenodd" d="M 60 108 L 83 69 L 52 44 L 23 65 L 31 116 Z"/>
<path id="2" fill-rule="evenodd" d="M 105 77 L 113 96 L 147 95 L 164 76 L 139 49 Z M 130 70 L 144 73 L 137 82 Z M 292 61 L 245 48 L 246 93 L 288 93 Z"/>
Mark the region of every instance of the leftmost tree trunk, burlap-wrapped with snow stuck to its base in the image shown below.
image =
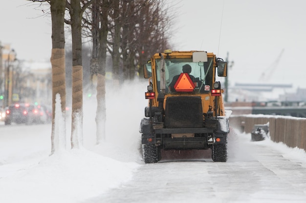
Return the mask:
<path id="1" fill-rule="evenodd" d="M 64 13 L 66 0 L 50 0 L 50 11 L 52 20 L 52 131 L 51 131 L 51 155 L 60 146 L 66 148 L 66 80 L 65 80 L 65 33 Z M 56 95 L 61 102 L 63 122 L 55 122 Z M 59 105 L 57 105 L 59 106 Z M 60 111 L 57 111 L 60 112 Z M 57 125 L 57 126 L 56 126 Z M 59 129 L 59 131 L 55 131 Z"/>

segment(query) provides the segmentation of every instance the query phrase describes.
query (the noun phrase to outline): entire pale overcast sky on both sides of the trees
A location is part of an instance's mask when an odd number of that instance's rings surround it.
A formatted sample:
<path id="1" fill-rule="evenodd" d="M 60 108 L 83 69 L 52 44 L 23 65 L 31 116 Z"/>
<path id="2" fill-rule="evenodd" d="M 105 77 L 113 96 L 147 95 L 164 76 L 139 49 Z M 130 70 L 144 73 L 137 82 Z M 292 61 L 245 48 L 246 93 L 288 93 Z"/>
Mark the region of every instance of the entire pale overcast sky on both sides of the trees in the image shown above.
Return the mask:
<path id="1" fill-rule="evenodd" d="M 170 1 L 166 1 L 169 3 Z M 51 23 L 26 0 L 5 1 L 0 41 L 20 59 L 49 60 Z M 292 84 L 306 88 L 305 0 L 172 0 L 173 50 L 229 53 L 231 85 Z M 283 51 L 282 51 L 283 50 Z M 262 75 L 264 78 L 261 78 Z"/>

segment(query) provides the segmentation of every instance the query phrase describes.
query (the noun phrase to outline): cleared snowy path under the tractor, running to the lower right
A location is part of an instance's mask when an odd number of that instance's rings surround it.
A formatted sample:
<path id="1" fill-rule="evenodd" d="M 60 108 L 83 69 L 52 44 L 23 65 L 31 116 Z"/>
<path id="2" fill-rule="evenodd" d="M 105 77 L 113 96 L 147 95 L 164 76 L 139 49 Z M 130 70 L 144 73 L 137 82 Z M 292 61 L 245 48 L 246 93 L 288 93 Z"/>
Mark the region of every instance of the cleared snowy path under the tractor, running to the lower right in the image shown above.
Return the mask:
<path id="1" fill-rule="evenodd" d="M 202 159 L 143 164 L 130 182 L 85 202 L 305 203 L 305 159 L 294 153 L 284 157 L 287 152 L 278 144 L 250 142 L 249 136 L 230 140 L 227 163 Z"/>

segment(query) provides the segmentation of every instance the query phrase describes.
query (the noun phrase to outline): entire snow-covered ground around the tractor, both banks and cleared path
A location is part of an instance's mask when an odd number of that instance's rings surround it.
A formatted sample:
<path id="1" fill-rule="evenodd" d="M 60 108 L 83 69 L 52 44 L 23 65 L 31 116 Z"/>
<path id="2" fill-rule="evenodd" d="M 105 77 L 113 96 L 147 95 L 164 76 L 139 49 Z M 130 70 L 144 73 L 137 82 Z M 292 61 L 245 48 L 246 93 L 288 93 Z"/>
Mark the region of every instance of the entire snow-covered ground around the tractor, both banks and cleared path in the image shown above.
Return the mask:
<path id="1" fill-rule="evenodd" d="M 305 203 L 306 200 L 305 151 L 270 140 L 251 142 L 250 134 L 232 135 L 226 163 L 212 162 L 209 156 L 178 159 L 176 154 L 173 160 L 144 164 L 135 139 L 131 139 L 140 135 L 133 133 L 125 134 L 121 144 L 109 139 L 105 145 L 94 146 L 92 151 L 96 155 L 67 150 L 48 157 L 50 130 L 49 124 L 0 125 L 1 203 Z"/>

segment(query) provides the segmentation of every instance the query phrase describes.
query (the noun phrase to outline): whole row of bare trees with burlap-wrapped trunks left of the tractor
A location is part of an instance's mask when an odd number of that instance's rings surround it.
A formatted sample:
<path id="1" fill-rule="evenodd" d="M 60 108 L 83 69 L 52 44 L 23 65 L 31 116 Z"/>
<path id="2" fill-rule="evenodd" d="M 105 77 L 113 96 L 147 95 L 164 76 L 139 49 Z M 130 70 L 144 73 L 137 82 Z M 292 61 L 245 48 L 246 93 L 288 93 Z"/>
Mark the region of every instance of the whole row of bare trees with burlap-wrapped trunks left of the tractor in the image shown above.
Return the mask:
<path id="1" fill-rule="evenodd" d="M 82 35 L 93 41 L 90 76 L 96 78 L 97 144 L 105 140 L 107 53 L 112 57 L 112 80 L 133 79 L 149 55 L 169 47 L 170 9 L 162 0 L 31 0 L 50 4 L 52 20 L 52 134 L 51 154 L 56 151 L 55 101 L 60 96 L 65 119 L 65 68 L 72 69 L 71 147 L 83 140 Z M 65 67 L 65 23 L 72 38 L 72 67 Z M 122 74 L 120 74 L 122 70 Z M 64 120 L 65 122 L 65 120 Z M 64 129 L 66 131 L 66 129 Z M 65 132 L 64 132 L 65 133 Z"/>

